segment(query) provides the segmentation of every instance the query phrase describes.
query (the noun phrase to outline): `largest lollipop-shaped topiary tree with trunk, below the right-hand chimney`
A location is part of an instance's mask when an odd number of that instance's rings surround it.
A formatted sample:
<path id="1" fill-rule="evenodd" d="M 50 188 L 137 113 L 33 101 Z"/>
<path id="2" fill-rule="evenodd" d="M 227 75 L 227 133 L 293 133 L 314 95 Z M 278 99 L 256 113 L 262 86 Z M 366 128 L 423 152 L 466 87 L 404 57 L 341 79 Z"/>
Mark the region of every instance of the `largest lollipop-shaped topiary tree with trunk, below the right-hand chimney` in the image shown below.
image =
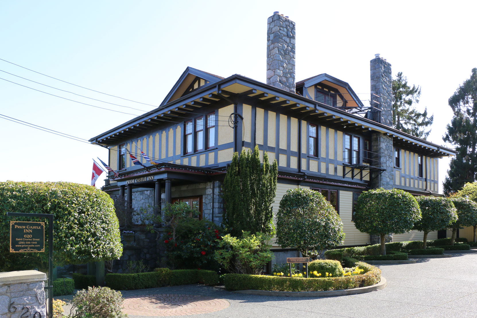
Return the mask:
<path id="1" fill-rule="evenodd" d="M 354 225 L 370 235 L 381 236 L 381 254 L 386 255 L 384 237 L 388 233 L 405 233 L 421 219 L 415 197 L 404 190 L 383 188 L 364 191 L 354 212 Z"/>

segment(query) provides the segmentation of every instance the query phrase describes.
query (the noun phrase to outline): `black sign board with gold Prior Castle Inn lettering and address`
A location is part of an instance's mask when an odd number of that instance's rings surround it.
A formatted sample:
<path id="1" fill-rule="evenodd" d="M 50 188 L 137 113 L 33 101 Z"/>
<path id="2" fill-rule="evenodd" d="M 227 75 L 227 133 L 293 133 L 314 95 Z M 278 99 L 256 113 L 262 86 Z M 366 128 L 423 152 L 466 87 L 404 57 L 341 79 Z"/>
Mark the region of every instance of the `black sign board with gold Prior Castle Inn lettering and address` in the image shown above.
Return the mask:
<path id="1" fill-rule="evenodd" d="M 45 223 L 10 221 L 10 253 L 45 251 Z"/>

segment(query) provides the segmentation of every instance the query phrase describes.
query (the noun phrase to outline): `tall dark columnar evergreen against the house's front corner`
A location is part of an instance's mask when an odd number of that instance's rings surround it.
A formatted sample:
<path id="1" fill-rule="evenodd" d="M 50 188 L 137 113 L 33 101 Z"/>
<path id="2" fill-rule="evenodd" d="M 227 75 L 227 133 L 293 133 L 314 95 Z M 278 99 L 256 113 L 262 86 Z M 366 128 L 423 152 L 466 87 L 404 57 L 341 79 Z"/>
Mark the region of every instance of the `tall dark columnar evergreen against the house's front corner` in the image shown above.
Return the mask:
<path id="1" fill-rule="evenodd" d="M 225 225 L 232 236 L 242 231 L 272 233 L 273 210 L 277 191 L 278 164 L 269 163 L 263 152 L 260 163 L 259 147 L 253 152 L 234 153 L 222 188 L 225 205 Z"/>

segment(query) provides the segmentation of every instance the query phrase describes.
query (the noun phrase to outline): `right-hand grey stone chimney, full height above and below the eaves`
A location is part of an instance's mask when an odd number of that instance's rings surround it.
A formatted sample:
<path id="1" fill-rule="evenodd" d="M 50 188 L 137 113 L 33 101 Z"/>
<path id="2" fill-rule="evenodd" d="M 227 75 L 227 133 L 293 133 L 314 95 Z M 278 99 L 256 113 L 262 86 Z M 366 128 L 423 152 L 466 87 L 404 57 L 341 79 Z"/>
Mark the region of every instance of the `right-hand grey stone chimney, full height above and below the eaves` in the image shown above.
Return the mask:
<path id="1" fill-rule="evenodd" d="M 371 103 L 381 111 L 373 111 L 373 120 L 384 125 L 393 126 L 393 78 L 391 63 L 375 54 L 370 61 L 371 69 Z M 377 103 L 376 103 L 377 102 Z M 386 169 L 382 173 L 373 172 L 373 188 L 392 189 L 394 187 L 394 148 L 393 137 L 374 132 L 371 138 L 371 151 L 375 164 Z"/>

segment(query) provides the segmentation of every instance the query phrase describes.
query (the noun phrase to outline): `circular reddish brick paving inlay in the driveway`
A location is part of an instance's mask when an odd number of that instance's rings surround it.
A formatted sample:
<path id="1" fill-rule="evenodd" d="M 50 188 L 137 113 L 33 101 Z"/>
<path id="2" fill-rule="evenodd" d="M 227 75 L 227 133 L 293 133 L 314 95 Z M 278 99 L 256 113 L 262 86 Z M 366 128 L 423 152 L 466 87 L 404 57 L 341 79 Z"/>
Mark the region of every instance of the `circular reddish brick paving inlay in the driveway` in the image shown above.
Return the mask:
<path id="1" fill-rule="evenodd" d="M 124 298 L 125 314 L 138 316 L 180 316 L 205 314 L 230 306 L 225 299 L 197 295 L 142 295 Z"/>

